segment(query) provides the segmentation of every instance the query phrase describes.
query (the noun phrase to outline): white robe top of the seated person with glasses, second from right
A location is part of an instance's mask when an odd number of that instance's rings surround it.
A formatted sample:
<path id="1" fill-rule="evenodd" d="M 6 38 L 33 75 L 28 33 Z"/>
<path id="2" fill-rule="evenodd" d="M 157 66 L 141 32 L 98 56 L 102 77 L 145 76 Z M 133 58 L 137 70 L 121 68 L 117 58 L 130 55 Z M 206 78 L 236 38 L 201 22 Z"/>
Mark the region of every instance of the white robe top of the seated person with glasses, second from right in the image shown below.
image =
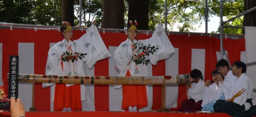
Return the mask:
<path id="1" fill-rule="evenodd" d="M 237 80 L 237 77 L 233 75 L 231 70 L 229 70 L 223 82 L 223 92 L 225 95 L 225 100 L 232 98 L 232 96 L 234 95 L 233 93 L 231 93 L 232 92 L 231 86 L 234 84 L 236 80 Z"/>

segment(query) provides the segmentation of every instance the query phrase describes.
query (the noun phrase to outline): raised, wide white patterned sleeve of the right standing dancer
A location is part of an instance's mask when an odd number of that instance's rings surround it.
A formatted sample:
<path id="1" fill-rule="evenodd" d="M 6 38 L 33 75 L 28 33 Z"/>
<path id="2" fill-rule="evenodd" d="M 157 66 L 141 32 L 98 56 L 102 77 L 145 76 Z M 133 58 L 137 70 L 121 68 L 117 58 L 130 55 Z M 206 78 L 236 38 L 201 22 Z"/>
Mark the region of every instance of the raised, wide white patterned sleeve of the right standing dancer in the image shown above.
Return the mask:
<path id="1" fill-rule="evenodd" d="M 156 53 L 151 54 L 148 58 L 150 62 L 154 65 L 157 64 L 158 60 L 168 59 L 175 52 L 173 45 L 171 44 L 169 38 L 167 37 L 163 26 L 158 24 L 156 30 L 152 34 L 152 37 L 147 40 L 140 40 L 145 46 L 155 46 L 158 48 Z"/>

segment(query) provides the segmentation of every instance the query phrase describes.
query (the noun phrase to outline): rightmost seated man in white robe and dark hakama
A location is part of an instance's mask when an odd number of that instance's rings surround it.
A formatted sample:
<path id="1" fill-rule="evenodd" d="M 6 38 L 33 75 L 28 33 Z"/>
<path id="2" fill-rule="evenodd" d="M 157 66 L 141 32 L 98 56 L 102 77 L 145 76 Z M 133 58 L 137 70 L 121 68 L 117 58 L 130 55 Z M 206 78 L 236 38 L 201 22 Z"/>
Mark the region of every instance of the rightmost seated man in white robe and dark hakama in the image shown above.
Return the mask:
<path id="1" fill-rule="evenodd" d="M 226 101 L 217 100 L 213 106 L 215 112 L 224 112 L 236 117 L 251 117 L 256 115 L 256 107 L 252 105 L 252 80 L 245 75 L 246 70 L 247 68 L 245 63 L 241 61 L 233 63 L 232 73 L 237 76 L 238 79 L 232 85 L 230 93 L 232 95 L 236 95 L 237 92 L 242 89 L 245 89 L 245 91 L 241 93 L 240 96 L 233 96 Z"/>

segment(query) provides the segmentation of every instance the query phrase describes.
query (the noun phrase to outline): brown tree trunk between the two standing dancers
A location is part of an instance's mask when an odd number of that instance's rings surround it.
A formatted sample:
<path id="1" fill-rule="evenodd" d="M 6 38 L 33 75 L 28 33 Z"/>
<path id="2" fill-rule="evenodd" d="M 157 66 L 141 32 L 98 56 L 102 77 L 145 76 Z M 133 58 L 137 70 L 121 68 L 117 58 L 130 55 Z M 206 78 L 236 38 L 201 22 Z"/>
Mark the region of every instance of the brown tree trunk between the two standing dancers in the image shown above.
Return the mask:
<path id="1" fill-rule="evenodd" d="M 103 1 L 102 28 L 124 29 L 124 0 Z"/>

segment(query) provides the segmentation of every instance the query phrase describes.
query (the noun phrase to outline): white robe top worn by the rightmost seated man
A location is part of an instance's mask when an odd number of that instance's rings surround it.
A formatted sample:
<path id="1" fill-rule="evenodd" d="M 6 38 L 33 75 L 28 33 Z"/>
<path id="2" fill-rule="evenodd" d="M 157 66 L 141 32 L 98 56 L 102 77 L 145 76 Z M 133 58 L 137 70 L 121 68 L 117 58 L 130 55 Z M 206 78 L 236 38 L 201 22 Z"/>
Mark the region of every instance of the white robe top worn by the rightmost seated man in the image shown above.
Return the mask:
<path id="1" fill-rule="evenodd" d="M 253 84 L 252 80 L 243 73 L 236 82 L 232 85 L 232 94 L 235 95 L 238 91 L 245 88 L 246 90 L 239 96 L 234 99 L 233 102 L 242 106 L 245 104 L 245 110 L 249 110 L 251 107 L 250 103 L 247 103 L 247 99 L 253 98 Z"/>

